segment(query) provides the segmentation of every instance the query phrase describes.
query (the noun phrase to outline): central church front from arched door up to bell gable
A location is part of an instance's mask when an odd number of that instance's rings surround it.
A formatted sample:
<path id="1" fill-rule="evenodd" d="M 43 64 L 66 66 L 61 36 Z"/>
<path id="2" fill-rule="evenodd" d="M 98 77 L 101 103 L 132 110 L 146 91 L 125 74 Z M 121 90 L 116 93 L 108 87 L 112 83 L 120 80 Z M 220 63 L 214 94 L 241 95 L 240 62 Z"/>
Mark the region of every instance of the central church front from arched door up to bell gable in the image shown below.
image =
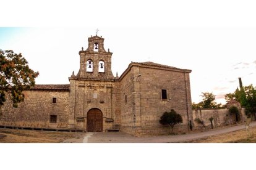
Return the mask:
<path id="1" fill-rule="evenodd" d="M 79 51 L 79 72 L 69 77 L 69 128 L 102 132 L 118 124 L 118 77 L 111 71 L 112 54 L 97 34 L 88 38 L 85 51 Z"/>

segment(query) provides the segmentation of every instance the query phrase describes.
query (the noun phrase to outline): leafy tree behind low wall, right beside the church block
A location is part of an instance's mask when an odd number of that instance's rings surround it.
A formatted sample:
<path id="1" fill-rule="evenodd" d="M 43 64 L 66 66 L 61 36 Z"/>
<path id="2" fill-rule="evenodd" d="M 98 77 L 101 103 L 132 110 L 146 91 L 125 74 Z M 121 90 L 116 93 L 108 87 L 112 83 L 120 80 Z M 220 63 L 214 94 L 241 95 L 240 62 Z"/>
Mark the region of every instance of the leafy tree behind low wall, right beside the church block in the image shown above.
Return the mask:
<path id="1" fill-rule="evenodd" d="M 192 103 L 192 108 L 221 108 L 221 103 L 217 104 L 215 102 L 215 95 L 212 92 L 202 92 L 203 97 L 202 102 Z"/>

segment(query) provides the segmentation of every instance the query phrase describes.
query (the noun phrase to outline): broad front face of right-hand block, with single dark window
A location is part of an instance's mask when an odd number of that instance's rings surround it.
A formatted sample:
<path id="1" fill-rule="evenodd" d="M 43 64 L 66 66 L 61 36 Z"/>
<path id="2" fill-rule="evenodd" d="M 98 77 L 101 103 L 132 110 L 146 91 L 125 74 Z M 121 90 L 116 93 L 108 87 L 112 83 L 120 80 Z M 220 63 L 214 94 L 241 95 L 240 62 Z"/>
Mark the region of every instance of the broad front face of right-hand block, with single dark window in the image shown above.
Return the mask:
<path id="1" fill-rule="evenodd" d="M 186 75 L 178 71 L 143 67 L 140 67 L 139 73 L 142 135 L 168 134 L 169 126 L 161 125 L 159 120 L 165 111 L 171 109 L 183 119 L 182 124 L 174 126 L 174 132 L 187 132 L 188 114 L 192 117 L 192 110 L 187 110 L 191 98 L 186 94 Z M 166 89 L 167 99 L 161 98 L 161 89 Z M 190 95 L 190 87 L 187 91 Z"/>

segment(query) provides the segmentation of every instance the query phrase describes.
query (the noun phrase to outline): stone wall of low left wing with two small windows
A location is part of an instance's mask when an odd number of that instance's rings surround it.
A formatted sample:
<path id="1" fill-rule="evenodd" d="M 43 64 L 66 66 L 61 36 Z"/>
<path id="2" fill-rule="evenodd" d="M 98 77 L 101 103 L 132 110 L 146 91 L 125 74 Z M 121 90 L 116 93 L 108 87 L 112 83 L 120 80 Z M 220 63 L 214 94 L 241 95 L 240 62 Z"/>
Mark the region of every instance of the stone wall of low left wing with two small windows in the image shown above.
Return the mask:
<path id="1" fill-rule="evenodd" d="M 22 127 L 66 128 L 69 115 L 68 91 L 24 91 L 25 100 L 18 108 L 7 99 L 0 110 L 0 124 Z M 53 97 L 57 102 L 53 103 Z M 57 116 L 57 123 L 49 123 L 50 115 Z"/>

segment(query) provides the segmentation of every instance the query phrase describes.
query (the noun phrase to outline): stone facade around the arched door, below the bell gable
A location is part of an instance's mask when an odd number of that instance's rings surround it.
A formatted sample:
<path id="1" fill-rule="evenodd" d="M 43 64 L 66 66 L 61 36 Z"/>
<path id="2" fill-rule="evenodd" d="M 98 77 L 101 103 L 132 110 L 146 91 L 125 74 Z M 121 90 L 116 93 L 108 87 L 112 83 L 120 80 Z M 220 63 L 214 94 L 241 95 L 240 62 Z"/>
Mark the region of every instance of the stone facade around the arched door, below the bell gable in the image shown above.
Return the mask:
<path id="1" fill-rule="evenodd" d="M 69 105 L 73 107 L 70 108 L 69 123 L 74 123 L 75 128 L 87 129 L 87 113 L 92 108 L 103 113 L 103 132 L 119 124 L 119 91 L 115 81 L 78 79 L 71 80 L 70 84 Z M 96 98 L 93 98 L 93 93 Z"/>

